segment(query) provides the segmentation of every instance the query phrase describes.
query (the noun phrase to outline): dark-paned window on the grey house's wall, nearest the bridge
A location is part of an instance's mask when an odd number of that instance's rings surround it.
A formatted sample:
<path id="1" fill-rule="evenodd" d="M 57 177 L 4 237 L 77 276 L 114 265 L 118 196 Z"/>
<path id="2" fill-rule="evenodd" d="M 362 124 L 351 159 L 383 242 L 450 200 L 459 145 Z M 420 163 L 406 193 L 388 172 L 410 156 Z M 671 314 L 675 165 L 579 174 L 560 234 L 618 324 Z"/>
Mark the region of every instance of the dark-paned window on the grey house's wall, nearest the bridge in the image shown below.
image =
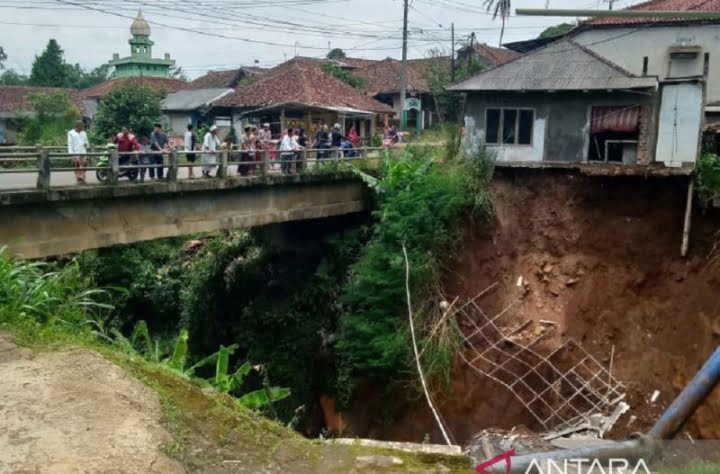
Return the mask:
<path id="1" fill-rule="evenodd" d="M 485 143 L 532 145 L 534 122 L 532 109 L 485 109 Z"/>

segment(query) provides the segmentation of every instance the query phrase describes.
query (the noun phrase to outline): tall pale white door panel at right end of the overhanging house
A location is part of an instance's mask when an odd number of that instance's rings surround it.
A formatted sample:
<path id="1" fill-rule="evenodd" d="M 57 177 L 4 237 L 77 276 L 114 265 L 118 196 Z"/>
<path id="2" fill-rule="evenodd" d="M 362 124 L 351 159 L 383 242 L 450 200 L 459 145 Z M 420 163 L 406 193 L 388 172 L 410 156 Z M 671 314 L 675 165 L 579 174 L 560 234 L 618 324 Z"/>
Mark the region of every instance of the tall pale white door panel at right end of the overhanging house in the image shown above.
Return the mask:
<path id="1" fill-rule="evenodd" d="M 696 161 L 702 123 L 702 94 L 702 84 L 663 86 L 655 161 L 672 167 Z"/>

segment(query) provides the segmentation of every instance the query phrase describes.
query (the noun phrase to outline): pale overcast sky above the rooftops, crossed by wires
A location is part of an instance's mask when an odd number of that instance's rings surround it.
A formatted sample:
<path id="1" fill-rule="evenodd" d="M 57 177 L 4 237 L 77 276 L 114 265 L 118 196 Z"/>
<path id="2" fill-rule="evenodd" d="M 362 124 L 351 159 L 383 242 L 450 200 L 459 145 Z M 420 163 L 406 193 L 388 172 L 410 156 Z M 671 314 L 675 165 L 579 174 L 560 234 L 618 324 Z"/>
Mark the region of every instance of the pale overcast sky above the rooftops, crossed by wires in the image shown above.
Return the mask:
<path id="1" fill-rule="evenodd" d="M 497 45 L 500 20 L 484 0 L 413 0 L 409 57 L 450 47 L 475 32 Z M 617 0 L 615 8 L 638 3 Z M 607 8 L 605 0 L 549 0 L 550 8 Z M 513 0 L 515 8 L 543 8 L 543 0 Z M 331 47 L 364 58 L 400 58 L 402 0 L 0 0 L 0 46 L 5 66 L 28 73 L 32 60 L 55 38 L 68 62 L 93 68 L 129 55 L 130 24 L 138 10 L 151 22 L 154 56 L 170 53 L 190 77 L 239 65 L 271 66 L 291 58 L 322 56 Z M 536 37 L 569 18 L 511 17 L 504 42 Z M 166 25 L 166 26 L 162 26 Z M 202 34 L 199 32 L 204 32 Z M 213 36 L 214 35 L 214 36 Z M 255 40 L 257 43 L 245 40 Z"/>

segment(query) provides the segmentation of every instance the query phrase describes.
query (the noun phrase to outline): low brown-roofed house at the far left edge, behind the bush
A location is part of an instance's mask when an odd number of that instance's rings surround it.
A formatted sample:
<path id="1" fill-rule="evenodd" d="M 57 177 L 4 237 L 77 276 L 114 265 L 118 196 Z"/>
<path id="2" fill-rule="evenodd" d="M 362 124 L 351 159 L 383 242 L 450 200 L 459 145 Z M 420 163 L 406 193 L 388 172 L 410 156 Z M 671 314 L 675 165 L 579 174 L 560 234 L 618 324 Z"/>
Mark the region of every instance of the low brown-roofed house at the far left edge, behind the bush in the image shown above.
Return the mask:
<path id="1" fill-rule="evenodd" d="M 82 100 L 77 90 L 59 87 L 28 87 L 0 85 L 0 145 L 14 144 L 17 139 L 16 120 L 33 113 L 30 98 L 33 94 L 52 94 L 65 92 L 84 112 Z"/>

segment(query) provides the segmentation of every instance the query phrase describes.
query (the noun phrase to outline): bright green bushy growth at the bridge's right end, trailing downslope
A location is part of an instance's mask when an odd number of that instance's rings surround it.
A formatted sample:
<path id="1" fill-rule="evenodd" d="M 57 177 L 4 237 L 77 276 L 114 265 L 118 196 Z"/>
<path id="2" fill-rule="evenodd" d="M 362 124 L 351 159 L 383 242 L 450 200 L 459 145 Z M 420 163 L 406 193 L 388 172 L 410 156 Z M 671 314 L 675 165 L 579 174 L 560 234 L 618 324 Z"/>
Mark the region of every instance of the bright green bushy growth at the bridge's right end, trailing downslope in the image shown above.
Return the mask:
<path id="1" fill-rule="evenodd" d="M 342 294 L 345 313 L 336 347 L 338 388 L 345 401 L 354 377 L 387 382 L 413 370 L 405 323 L 402 244 L 407 247 L 410 283 L 419 308 L 417 327 L 427 328 L 436 316 L 428 304 L 431 290 L 439 284 L 442 263 L 455 247 L 461 217 L 478 203 L 484 207 L 489 202 L 488 165 L 480 160 L 486 157 L 437 163 L 428 149 L 412 148 L 397 161 L 385 160 L 374 212 L 377 222 Z M 448 350 L 435 345 L 426 354 L 430 357 L 424 360 L 426 367 L 436 375 L 447 372 Z M 431 360 L 433 355 L 441 360 Z"/>

